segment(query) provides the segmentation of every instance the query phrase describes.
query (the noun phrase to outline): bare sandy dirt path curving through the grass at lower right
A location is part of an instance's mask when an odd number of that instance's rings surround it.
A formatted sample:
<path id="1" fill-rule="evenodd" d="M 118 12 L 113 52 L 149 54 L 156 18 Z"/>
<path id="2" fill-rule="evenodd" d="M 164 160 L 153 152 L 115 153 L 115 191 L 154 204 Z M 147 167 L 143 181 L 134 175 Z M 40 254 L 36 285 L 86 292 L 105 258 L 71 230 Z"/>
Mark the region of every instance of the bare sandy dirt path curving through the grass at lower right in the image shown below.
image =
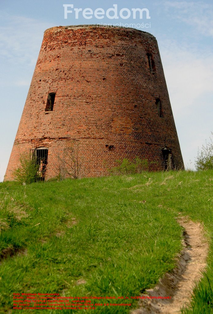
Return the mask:
<path id="1" fill-rule="evenodd" d="M 172 273 L 167 273 L 155 288 L 146 290 L 151 296 L 171 296 L 170 300 L 141 299 L 139 308 L 131 314 L 172 314 L 181 313 L 180 309 L 189 304 L 195 282 L 202 277 L 206 267 L 208 243 L 203 236 L 203 227 L 199 223 L 178 217 L 177 221 L 184 231 L 184 248 L 179 264 Z"/>

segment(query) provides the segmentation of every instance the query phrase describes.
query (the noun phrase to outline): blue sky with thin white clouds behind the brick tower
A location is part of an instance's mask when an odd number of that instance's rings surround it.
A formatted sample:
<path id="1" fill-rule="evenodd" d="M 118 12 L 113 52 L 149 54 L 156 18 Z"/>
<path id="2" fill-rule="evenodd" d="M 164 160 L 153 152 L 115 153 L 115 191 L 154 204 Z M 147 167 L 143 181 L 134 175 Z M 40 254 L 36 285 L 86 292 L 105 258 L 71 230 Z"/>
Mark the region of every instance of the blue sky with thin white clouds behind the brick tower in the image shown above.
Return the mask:
<path id="1" fill-rule="evenodd" d="M 64 19 L 63 4 L 74 8 L 147 8 L 150 19 Z M 70 8 L 71 9 L 71 8 Z M 127 12 L 124 14 L 127 14 Z M 8 164 L 44 31 L 53 26 L 148 23 L 161 54 L 184 164 L 194 165 L 198 147 L 213 131 L 212 1 L 0 0 L 0 181 Z M 148 25 L 147 24 L 147 25 Z"/>

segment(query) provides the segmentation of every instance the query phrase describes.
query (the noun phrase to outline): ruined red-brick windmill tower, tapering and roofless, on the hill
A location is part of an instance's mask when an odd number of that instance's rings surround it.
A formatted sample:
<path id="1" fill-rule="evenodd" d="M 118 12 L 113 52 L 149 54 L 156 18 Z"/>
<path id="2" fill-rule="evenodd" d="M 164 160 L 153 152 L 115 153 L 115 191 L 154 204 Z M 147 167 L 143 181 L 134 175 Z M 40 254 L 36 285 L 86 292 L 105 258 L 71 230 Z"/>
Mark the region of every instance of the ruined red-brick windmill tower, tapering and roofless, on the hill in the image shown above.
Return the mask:
<path id="1" fill-rule="evenodd" d="M 136 156 L 152 161 L 150 170 L 183 168 L 153 35 L 98 25 L 45 31 L 5 180 L 30 150 L 46 179 L 56 176 L 58 156 L 73 141 L 87 176 Z"/>

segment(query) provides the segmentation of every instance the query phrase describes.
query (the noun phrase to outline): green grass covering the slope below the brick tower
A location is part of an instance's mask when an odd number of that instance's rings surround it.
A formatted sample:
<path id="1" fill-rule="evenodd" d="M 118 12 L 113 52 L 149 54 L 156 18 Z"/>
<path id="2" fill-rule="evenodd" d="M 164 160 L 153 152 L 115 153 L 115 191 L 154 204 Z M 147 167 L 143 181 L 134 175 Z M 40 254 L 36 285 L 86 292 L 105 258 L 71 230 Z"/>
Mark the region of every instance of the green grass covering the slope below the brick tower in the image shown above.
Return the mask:
<path id="1" fill-rule="evenodd" d="M 182 236 L 174 219 L 178 213 L 203 222 L 210 243 L 208 268 L 194 292 L 193 309 L 183 313 L 212 313 L 212 185 L 213 171 L 27 186 L 0 183 L 0 252 L 8 247 L 27 250 L 1 262 L 0 313 L 13 307 L 13 293 L 129 298 L 143 293 L 176 265 Z M 137 306 L 132 300 L 131 309 Z M 129 309 L 27 311 L 101 314 Z"/>

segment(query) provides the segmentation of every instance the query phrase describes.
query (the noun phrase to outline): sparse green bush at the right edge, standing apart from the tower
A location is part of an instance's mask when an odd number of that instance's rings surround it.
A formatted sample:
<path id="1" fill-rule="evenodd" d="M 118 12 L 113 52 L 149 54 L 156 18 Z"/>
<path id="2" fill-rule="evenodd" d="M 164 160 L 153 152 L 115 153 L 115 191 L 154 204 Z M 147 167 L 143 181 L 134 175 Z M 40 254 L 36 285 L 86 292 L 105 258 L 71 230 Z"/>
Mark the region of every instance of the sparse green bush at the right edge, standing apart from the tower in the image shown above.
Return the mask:
<path id="1" fill-rule="evenodd" d="M 211 132 L 213 136 L 213 133 Z M 195 167 L 197 170 L 213 169 L 213 140 L 203 145 L 201 150 L 198 150 L 198 156 L 195 160 Z"/>

